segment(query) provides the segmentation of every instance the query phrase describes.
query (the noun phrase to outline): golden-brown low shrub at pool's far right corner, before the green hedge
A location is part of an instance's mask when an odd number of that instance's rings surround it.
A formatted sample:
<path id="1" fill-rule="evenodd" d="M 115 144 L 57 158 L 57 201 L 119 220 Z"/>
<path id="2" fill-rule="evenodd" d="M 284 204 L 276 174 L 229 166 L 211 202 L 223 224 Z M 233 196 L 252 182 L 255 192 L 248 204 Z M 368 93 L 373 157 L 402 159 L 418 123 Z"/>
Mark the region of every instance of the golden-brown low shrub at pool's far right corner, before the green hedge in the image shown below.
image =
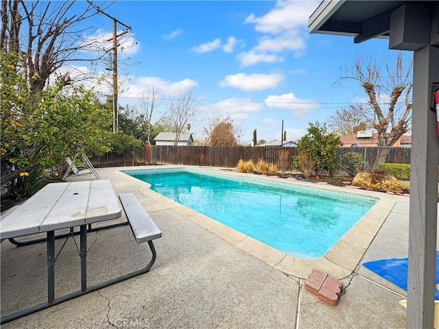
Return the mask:
<path id="1" fill-rule="evenodd" d="M 384 191 L 401 193 L 401 183 L 392 175 L 383 170 L 373 170 L 370 173 L 357 173 L 352 181 L 353 186 L 365 188 L 370 191 Z"/>

